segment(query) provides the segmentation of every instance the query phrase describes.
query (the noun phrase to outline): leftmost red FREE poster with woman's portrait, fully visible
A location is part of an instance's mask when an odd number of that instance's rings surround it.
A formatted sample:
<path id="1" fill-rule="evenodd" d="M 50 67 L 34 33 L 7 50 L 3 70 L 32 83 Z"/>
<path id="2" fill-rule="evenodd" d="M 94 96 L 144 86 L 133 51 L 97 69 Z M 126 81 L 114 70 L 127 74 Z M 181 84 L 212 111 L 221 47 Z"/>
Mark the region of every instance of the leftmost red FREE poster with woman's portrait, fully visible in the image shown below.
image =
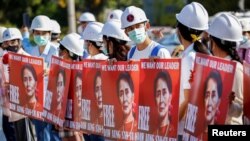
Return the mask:
<path id="1" fill-rule="evenodd" d="M 9 53 L 9 66 L 10 109 L 29 117 L 42 119 L 43 59 Z"/>

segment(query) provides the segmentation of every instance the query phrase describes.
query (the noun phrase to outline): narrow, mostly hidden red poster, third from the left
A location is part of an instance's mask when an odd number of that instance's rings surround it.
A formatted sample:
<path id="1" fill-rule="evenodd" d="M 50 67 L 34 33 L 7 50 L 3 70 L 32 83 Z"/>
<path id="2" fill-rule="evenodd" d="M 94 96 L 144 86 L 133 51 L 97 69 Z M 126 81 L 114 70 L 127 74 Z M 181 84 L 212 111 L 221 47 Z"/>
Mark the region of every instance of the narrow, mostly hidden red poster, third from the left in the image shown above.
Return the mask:
<path id="1" fill-rule="evenodd" d="M 82 128 L 83 62 L 72 62 L 70 68 L 71 76 L 64 127 L 80 131 Z"/>

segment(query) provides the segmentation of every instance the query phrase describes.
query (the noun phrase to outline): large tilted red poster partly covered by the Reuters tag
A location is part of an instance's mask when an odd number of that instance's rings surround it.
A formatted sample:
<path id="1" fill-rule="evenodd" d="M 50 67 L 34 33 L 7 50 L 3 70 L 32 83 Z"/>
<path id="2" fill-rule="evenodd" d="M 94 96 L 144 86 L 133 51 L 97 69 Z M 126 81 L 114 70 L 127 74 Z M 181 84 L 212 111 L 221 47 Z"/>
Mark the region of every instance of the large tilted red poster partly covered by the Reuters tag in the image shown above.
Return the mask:
<path id="1" fill-rule="evenodd" d="M 235 67 L 236 62 L 196 54 L 183 140 L 206 141 L 208 125 L 225 123 Z"/>

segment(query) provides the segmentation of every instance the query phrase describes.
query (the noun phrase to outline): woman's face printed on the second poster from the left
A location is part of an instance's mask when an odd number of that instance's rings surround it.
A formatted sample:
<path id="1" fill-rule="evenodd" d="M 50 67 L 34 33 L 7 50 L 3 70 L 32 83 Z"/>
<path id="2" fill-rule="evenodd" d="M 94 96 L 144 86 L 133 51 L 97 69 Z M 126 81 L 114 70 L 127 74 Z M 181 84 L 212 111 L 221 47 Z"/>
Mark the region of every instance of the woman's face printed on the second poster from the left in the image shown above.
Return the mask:
<path id="1" fill-rule="evenodd" d="M 58 75 L 56 90 L 57 90 L 57 102 L 61 103 L 64 94 L 64 80 L 62 73 L 59 73 Z"/>

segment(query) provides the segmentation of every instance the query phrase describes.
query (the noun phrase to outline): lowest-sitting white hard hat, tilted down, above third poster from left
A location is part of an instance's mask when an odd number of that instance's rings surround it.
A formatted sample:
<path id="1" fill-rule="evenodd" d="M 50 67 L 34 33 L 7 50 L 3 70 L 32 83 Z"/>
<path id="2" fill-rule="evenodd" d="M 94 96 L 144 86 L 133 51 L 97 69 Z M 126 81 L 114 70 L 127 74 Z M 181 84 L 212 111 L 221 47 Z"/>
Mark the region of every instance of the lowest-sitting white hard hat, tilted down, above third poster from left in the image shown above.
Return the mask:
<path id="1" fill-rule="evenodd" d="M 70 33 L 64 36 L 64 38 L 60 41 L 60 44 L 62 44 L 70 52 L 78 56 L 83 56 L 84 40 L 81 39 L 81 36 L 79 34 Z"/>

